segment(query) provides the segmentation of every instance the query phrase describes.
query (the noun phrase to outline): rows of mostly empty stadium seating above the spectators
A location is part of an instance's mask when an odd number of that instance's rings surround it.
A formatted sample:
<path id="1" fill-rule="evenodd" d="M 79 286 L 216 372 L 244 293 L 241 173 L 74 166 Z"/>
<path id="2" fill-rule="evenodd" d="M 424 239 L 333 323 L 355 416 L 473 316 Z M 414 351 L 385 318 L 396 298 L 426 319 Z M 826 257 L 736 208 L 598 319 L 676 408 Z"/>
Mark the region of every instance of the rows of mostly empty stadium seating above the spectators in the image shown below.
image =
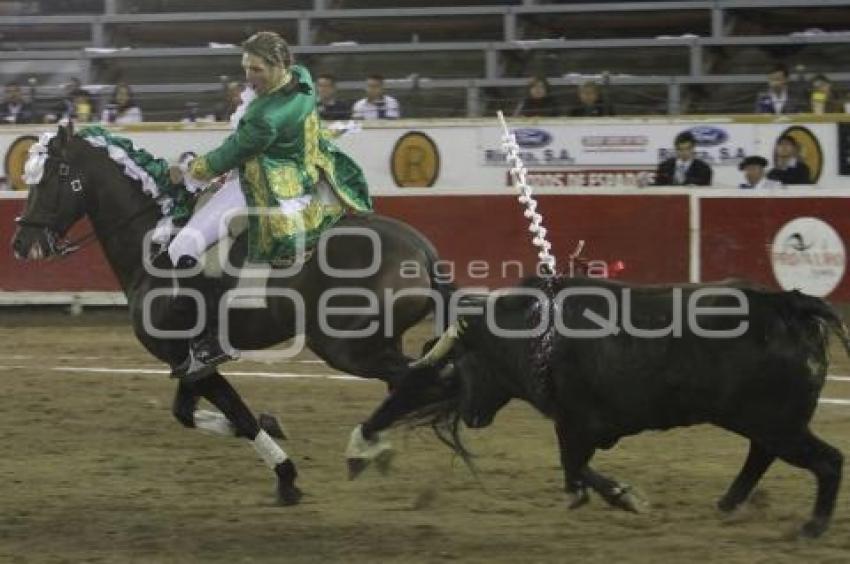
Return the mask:
<path id="1" fill-rule="evenodd" d="M 795 80 L 850 80 L 846 4 L 245 0 L 236 12 L 224 0 L 13 1 L 0 4 L 0 80 L 32 79 L 44 103 L 72 76 L 126 81 L 146 119 L 174 120 L 187 103 L 214 105 L 223 77 L 241 74 L 239 41 L 273 29 L 314 72 L 337 75 L 343 98 L 381 72 L 407 117 L 510 110 L 532 73 L 566 105 L 573 85 L 604 73 L 619 114 L 747 112 L 777 62 Z"/>

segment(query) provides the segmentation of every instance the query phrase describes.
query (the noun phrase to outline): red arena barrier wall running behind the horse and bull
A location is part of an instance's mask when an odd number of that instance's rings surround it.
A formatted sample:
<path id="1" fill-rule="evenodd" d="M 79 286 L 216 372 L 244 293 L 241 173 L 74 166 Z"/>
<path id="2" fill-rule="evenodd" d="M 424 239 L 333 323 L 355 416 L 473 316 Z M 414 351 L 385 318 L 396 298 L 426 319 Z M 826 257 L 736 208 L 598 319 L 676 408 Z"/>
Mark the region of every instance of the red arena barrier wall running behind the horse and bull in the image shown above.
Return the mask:
<path id="1" fill-rule="evenodd" d="M 704 194 L 705 192 L 701 193 Z M 731 192 L 734 194 L 734 192 Z M 691 203 L 700 218 L 698 246 L 700 279 L 738 276 L 778 287 L 771 265 L 770 245 L 788 221 L 820 218 L 850 244 L 850 198 L 844 197 L 702 197 L 675 194 L 543 195 L 538 198 L 549 239 L 559 259 L 579 239 L 588 243 L 586 256 L 606 262 L 622 260 L 622 278 L 634 282 L 682 282 L 689 279 Z M 692 202 L 693 200 L 693 202 Z M 454 266 L 462 286 L 498 287 L 514 283 L 520 261 L 523 274 L 536 262 L 528 222 L 516 198 L 509 195 L 433 195 L 378 197 L 377 211 L 422 231 L 441 257 Z M 114 291 L 117 282 L 97 245 L 66 260 L 20 263 L 8 242 L 13 220 L 23 200 L 0 199 L 0 291 Z M 87 232 L 81 224 L 72 235 Z M 472 261 L 484 261 L 473 264 Z M 449 275 L 448 264 L 442 270 Z M 478 277 L 481 274 L 484 277 Z M 845 276 L 828 296 L 850 302 Z"/>

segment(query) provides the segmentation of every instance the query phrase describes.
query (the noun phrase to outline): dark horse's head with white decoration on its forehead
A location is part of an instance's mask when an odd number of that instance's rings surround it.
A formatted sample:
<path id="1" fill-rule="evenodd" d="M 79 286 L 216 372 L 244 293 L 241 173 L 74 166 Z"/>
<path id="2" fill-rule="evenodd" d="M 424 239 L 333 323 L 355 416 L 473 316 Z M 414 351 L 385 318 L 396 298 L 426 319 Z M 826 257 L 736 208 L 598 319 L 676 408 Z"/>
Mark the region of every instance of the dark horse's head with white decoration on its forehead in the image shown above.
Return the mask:
<path id="1" fill-rule="evenodd" d="M 49 139 L 49 141 L 48 141 Z M 38 260 L 64 254 L 65 233 L 85 215 L 82 171 L 74 164 L 73 126 L 59 126 L 30 149 L 24 168 L 29 196 L 12 248 L 18 259 Z"/>

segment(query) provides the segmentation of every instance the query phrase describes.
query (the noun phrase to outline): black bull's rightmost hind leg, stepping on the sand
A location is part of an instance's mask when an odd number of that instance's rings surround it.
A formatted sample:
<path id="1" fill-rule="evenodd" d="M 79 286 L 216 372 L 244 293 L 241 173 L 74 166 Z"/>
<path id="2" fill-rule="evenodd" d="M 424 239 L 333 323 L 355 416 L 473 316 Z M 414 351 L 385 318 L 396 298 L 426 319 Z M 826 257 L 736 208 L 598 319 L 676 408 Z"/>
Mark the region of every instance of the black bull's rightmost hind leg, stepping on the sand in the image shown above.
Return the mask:
<path id="1" fill-rule="evenodd" d="M 784 438 L 768 445 L 768 448 L 789 464 L 805 468 L 817 479 L 817 497 L 812 518 L 800 531 L 803 536 L 818 537 L 829 527 L 838 488 L 844 457 L 837 448 L 816 437 L 806 429 L 795 437 Z"/>

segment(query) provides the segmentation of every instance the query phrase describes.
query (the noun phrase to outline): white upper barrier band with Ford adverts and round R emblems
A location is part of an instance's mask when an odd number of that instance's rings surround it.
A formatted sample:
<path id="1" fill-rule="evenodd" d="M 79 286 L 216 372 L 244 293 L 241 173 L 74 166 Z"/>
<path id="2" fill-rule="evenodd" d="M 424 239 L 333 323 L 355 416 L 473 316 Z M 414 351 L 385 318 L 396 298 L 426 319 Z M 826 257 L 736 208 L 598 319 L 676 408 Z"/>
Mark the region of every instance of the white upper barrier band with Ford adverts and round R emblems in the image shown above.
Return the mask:
<path id="1" fill-rule="evenodd" d="M 846 185 L 839 175 L 838 124 L 813 116 L 767 118 L 652 118 L 512 120 L 530 179 L 554 192 L 564 187 L 651 183 L 656 164 L 672 155 L 675 136 L 695 134 L 698 153 L 714 169 L 714 184 L 736 187 L 746 155 L 772 160 L 776 139 L 791 133 L 802 157 L 819 171 L 818 184 Z M 46 126 L 0 128 L 0 153 L 22 135 Z M 139 124 L 115 127 L 151 153 L 171 160 L 186 150 L 204 152 L 229 133 L 225 124 Z M 358 124 L 338 143 L 361 164 L 376 195 L 510 193 L 495 119 L 403 120 Z M 7 161 L 8 159 L 4 159 Z M 4 163 L 4 166 L 10 166 Z M 5 176 L 5 173 L 4 173 Z"/>

